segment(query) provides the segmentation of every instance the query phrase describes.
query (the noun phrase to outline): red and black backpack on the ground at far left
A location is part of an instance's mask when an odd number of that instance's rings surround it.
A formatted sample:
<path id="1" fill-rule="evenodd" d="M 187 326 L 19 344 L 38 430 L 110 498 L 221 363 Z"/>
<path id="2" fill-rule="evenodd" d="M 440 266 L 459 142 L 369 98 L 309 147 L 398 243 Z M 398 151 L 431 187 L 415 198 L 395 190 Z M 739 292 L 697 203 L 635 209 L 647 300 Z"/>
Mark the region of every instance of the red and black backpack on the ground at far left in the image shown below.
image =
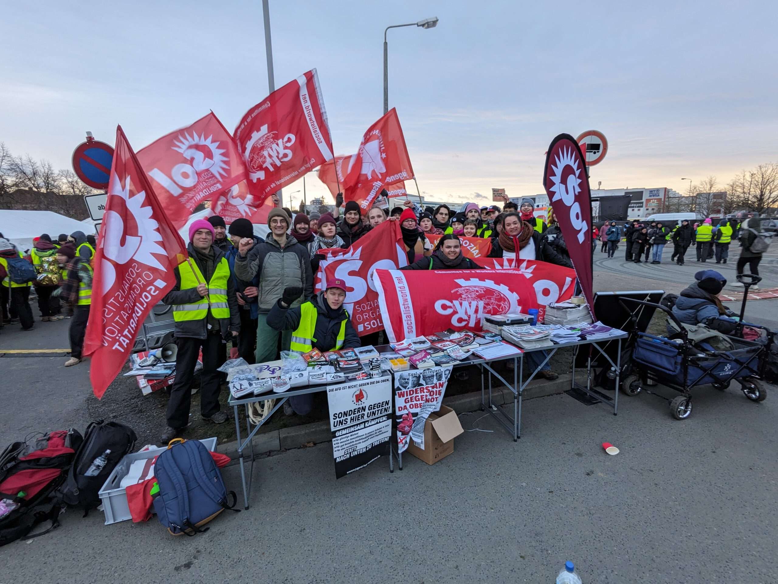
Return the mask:
<path id="1" fill-rule="evenodd" d="M 0 499 L 16 501 L 19 506 L 0 517 L 0 546 L 25 537 L 47 519 L 51 527 L 43 533 L 59 525 L 61 507 L 52 494 L 67 477 L 82 442 L 80 432 L 71 428 L 34 434 L 25 442 L 13 442 L 2 452 Z M 23 496 L 19 496 L 21 492 Z"/>

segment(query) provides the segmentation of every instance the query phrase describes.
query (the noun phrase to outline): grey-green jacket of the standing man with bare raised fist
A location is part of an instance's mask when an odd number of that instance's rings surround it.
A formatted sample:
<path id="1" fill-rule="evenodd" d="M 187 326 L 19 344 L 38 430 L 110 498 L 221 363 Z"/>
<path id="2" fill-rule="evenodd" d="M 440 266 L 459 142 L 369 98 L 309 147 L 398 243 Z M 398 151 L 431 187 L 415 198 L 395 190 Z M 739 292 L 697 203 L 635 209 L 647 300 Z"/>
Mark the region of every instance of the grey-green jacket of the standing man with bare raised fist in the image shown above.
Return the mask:
<path id="1" fill-rule="evenodd" d="M 259 275 L 258 309 L 261 315 L 268 314 L 286 287 L 303 288 L 303 297 L 298 298 L 293 306 L 300 306 L 314 294 L 314 275 L 308 251 L 291 235 L 286 236 L 284 248 L 271 235 L 265 243 L 254 245 L 245 257 L 238 254 L 235 275 L 244 282 L 251 282 L 254 276 Z"/>

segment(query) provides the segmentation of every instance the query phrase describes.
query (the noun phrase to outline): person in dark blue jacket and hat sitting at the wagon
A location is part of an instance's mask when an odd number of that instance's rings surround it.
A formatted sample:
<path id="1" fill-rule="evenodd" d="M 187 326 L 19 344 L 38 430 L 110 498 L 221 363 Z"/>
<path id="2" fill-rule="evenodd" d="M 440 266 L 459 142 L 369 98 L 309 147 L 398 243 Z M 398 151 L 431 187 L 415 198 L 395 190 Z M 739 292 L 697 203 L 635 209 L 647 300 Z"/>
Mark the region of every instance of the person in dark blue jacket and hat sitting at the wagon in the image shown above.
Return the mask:
<path id="1" fill-rule="evenodd" d="M 710 329 L 731 335 L 738 322 L 734 312 L 721 304 L 718 294 L 727 279 L 715 269 L 701 269 L 694 275 L 696 282 L 684 288 L 675 301 L 673 315 L 685 325 L 706 325 Z M 669 329 L 672 332 L 672 329 Z"/>

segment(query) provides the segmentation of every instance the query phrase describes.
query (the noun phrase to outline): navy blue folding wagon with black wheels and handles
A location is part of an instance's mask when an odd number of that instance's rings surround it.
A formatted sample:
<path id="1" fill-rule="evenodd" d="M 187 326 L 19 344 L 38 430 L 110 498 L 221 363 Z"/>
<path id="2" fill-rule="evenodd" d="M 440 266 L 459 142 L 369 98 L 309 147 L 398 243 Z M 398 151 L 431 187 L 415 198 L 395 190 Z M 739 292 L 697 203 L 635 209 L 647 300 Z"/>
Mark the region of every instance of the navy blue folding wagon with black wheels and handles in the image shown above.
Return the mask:
<path id="1" fill-rule="evenodd" d="M 750 279 L 750 281 L 748 280 Z M 740 321 L 735 335 L 741 335 L 745 301 L 748 288 L 761 278 L 744 274 L 738 280 L 745 284 L 745 294 L 741 307 Z M 661 304 L 624 298 L 621 301 L 645 304 L 668 314 L 669 322 L 675 323 L 678 332 L 670 338 L 654 336 L 646 332 L 633 331 L 635 342 L 631 359 L 631 371 L 622 377 L 621 389 L 627 396 L 637 396 L 640 392 L 654 393 L 644 385 L 656 385 L 659 382 L 680 392 L 680 396 L 668 399 L 670 411 L 676 420 L 685 420 L 692 414 L 692 395 L 690 390 L 698 385 L 713 385 L 724 391 L 731 382 L 737 381 L 748 399 L 764 401 L 767 390 L 763 385 L 764 373 L 769 357 L 769 347 L 773 347 L 774 333 L 763 326 L 752 325 L 755 329 L 766 331 L 767 342 L 749 341 L 737 336 L 726 336 L 734 346 L 731 350 L 717 350 L 710 343 L 695 343 L 689 338 L 689 330 L 675 318 L 672 311 Z M 622 304 L 624 306 L 624 304 Z M 624 308 L 627 308 L 624 306 Z M 657 395 L 654 393 L 654 395 Z M 662 397 L 662 396 L 659 396 Z M 663 398 L 666 399 L 666 398 Z"/>

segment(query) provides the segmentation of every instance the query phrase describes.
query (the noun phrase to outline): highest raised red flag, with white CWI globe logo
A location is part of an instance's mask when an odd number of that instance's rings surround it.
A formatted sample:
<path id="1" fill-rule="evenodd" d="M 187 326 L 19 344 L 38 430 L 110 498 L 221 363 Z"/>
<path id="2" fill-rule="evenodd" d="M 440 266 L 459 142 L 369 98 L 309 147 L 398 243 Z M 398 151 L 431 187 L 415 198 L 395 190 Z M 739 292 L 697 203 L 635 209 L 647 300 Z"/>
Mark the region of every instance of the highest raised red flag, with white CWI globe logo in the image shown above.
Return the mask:
<path id="1" fill-rule="evenodd" d="M 316 69 L 247 111 L 233 134 L 261 205 L 273 192 L 332 160 L 332 139 Z"/>

